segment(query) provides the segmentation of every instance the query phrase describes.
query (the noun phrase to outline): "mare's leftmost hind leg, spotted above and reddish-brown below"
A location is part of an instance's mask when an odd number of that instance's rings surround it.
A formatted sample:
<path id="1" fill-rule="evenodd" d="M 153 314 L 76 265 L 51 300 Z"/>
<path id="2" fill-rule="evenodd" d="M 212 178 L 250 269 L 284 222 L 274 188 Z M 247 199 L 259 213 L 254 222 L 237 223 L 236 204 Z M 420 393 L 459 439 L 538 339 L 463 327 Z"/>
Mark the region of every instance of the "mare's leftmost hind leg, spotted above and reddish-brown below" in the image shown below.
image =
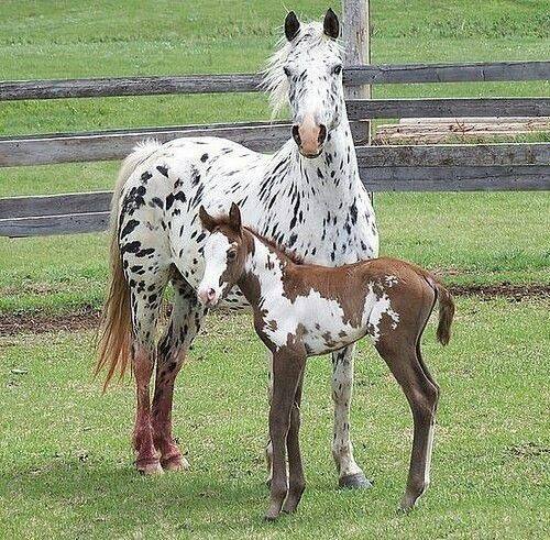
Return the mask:
<path id="1" fill-rule="evenodd" d="M 145 277 L 145 276 L 141 276 Z M 133 444 L 135 466 L 143 474 L 162 472 L 154 447 L 151 422 L 150 382 L 155 365 L 155 332 L 158 308 L 167 272 L 147 275 L 150 279 L 130 279 L 133 326 L 132 367 L 135 376 L 138 405 Z M 153 282 L 151 278 L 154 277 Z"/>

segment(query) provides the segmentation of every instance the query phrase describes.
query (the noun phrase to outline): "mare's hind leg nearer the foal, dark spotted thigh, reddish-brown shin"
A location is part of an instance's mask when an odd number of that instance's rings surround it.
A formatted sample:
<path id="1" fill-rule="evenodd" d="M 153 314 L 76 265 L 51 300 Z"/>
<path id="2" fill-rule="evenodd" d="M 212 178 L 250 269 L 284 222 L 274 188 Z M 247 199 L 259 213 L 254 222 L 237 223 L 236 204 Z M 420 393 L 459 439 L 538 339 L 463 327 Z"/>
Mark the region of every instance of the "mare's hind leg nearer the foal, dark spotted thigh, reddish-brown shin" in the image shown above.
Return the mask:
<path id="1" fill-rule="evenodd" d="M 187 282 L 178 275 L 173 284 L 174 306 L 169 324 L 158 344 L 153 398 L 154 442 L 161 452 L 161 464 L 166 470 L 188 466 L 172 434 L 174 383 L 205 315 L 195 290 Z"/>

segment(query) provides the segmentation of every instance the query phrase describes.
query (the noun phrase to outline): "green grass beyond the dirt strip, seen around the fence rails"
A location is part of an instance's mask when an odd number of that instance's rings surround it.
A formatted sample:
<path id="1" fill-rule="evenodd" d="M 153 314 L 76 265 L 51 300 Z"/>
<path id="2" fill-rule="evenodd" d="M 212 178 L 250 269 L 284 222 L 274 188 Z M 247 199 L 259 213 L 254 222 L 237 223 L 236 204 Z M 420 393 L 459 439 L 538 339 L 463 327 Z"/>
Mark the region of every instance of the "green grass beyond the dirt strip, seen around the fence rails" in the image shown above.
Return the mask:
<path id="1" fill-rule="evenodd" d="M 541 59 L 550 54 L 542 0 L 374 0 L 373 62 Z M 280 33 L 283 2 L 4 1 L 0 73 L 7 79 L 251 71 Z M 296 1 L 318 18 L 324 7 Z M 229 16 L 228 16 L 229 14 Z M 375 87 L 383 96 L 546 96 L 546 81 Z M 3 134 L 267 118 L 264 96 L 167 96 L 8 102 Z M 547 135 L 541 135 L 547 139 Z M 117 164 L 0 169 L 0 196 L 110 188 Z M 378 195 L 382 251 L 452 274 L 453 283 L 549 283 L 548 194 Z M 0 310 L 98 306 L 102 234 L 0 239 Z"/>

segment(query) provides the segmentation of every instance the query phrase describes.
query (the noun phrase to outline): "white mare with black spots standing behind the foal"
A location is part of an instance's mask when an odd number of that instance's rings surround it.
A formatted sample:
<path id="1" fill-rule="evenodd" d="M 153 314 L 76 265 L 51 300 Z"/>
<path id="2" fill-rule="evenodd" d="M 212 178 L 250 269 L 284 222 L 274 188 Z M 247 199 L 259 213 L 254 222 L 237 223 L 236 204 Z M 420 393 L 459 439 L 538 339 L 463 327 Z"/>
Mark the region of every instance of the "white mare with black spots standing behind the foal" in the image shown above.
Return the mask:
<path id="1" fill-rule="evenodd" d="M 205 266 L 200 205 L 222 211 L 238 201 L 246 223 L 310 263 L 336 266 L 377 255 L 374 213 L 345 112 L 338 19 L 329 10 L 322 24 L 300 24 L 290 12 L 285 34 L 265 78 L 274 108 L 287 100 L 294 124 L 293 139 L 276 154 L 222 139 L 178 139 L 138 147 L 119 174 L 98 368 L 107 366 L 109 382 L 132 363 L 134 448 L 143 473 L 185 465 L 172 436 L 172 400 L 174 381 L 206 315 L 196 293 Z M 158 308 L 168 282 L 174 307 L 157 346 Z M 238 290 L 224 302 L 246 306 Z M 332 355 L 332 452 L 340 485 L 365 486 L 350 441 L 352 353 L 349 346 Z"/>

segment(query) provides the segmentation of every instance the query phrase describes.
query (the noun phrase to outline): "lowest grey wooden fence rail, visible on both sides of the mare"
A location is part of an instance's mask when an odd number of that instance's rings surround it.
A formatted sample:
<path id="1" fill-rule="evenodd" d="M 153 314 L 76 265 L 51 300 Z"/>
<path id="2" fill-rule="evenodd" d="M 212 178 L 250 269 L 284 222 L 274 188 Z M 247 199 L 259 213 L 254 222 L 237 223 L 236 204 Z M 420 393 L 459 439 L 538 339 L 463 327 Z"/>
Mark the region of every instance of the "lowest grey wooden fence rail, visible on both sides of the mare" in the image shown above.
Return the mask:
<path id="1" fill-rule="evenodd" d="M 550 145 L 359 146 L 358 163 L 372 191 L 549 190 Z M 111 191 L 0 199 L 0 236 L 96 232 L 107 229 Z"/>

